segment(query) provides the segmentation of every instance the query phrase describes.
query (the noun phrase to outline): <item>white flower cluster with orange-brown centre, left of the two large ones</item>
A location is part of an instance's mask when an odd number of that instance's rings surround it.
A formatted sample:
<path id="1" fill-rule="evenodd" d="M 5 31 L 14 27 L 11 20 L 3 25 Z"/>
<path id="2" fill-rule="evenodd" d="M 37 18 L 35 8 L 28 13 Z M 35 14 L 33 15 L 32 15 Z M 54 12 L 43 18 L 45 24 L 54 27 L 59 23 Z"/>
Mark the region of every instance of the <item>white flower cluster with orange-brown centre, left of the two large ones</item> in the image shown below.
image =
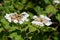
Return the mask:
<path id="1" fill-rule="evenodd" d="M 5 18 L 9 22 L 20 23 L 20 24 L 23 24 L 24 21 L 28 21 L 28 17 L 29 15 L 26 12 L 23 12 L 21 14 L 17 14 L 16 12 L 14 12 L 5 15 Z"/>

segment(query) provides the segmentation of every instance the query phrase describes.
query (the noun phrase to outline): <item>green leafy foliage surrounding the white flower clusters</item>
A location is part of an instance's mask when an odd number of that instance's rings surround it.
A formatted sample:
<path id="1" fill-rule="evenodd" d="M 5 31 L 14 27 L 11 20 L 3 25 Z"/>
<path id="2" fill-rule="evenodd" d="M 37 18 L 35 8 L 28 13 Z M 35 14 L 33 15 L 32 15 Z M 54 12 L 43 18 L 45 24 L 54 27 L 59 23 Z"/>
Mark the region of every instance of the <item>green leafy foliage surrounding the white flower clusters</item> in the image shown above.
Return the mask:
<path id="1" fill-rule="evenodd" d="M 4 18 L 6 14 L 24 11 L 30 15 L 29 21 L 21 25 Z M 31 23 L 34 15 L 41 14 L 50 16 L 52 25 L 41 27 Z M 60 40 L 59 27 L 60 5 L 52 0 L 0 0 L 0 40 Z"/>

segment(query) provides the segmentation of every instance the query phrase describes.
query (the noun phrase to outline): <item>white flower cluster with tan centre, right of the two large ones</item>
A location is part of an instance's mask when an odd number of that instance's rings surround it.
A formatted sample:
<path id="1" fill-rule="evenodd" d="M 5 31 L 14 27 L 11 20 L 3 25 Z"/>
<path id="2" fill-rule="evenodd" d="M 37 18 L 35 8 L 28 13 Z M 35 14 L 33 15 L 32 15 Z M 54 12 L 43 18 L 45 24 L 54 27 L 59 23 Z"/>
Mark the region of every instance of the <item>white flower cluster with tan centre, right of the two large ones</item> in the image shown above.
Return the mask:
<path id="1" fill-rule="evenodd" d="M 32 21 L 32 24 L 36 24 L 36 25 L 39 25 L 39 26 L 49 26 L 52 24 L 51 22 L 51 19 L 48 18 L 47 16 L 44 16 L 44 15 L 40 15 L 40 17 L 38 16 L 33 16 L 33 21 Z"/>

